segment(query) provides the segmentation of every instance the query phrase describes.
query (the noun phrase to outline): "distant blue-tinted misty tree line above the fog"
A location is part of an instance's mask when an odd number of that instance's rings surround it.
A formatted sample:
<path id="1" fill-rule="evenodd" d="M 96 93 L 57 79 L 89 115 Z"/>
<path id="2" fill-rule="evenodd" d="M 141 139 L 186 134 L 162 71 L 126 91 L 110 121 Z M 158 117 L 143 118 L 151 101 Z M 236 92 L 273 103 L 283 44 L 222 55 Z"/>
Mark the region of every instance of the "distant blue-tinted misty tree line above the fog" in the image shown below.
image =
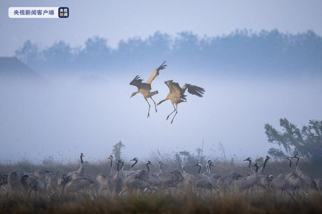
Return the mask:
<path id="1" fill-rule="evenodd" d="M 173 68 L 209 72 L 225 69 L 251 74 L 299 74 L 318 73 L 322 68 L 322 38 L 313 31 L 290 34 L 236 30 L 217 37 L 200 37 L 192 32 L 173 37 L 155 32 L 146 39 L 121 40 L 116 49 L 99 36 L 89 38 L 83 47 L 59 41 L 42 50 L 28 40 L 15 53 L 37 71 L 126 72 L 128 68 L 150 69 L 147 62 L 154 65 L 163 60 L 171 61 Z"/>

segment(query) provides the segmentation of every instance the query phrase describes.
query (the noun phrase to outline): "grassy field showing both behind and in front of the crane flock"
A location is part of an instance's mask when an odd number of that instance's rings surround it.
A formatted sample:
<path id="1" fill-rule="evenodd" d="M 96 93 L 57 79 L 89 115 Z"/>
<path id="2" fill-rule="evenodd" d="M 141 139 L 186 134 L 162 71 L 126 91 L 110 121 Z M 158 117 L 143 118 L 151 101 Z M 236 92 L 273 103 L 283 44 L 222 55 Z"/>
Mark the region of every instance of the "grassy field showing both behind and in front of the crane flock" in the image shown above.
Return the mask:
<path id="1" fill-rule="evenodd" d="M 158 158 L 151 157 L 154 167 L 151 172 L 157 172 Z M 214 162 L 213 172 L 224 175 L 231 171 L 237 171 L 241 175 L 248 172 L 248 163 L 243 161 L 222 161 L 212 159 Z M 134 169 L 144 169 L 145 160 L 141 160 Z M 206 161 L 206 160 L 204 160 Z M 174 158 L 164 158 L 164 171 L 171 171 L 174 168 L 181 169 L 182 162 Z M 193 167 L 197 160 L 186 160 L 186 171 L 197 174 L 198 169 Z M 257 161 L 258 162 L 258 161 Z M 189 163 L 189 164 L 188 164 Z M 203 164 L 205 165 L 205 163 Z M 110 161 L 85 162 L 87 174 L 96 176 L 99 173 L 110 173 Z M 126 163 L 125 170 L 129 170 L 130 164 Z M 322 172 L 314 170 L 314 167 L 304 161 L 300 165 L 302 171 L 311 174 L 315 180 L 322 177 Z M 0 164 L 0 172 L 8 174 L 17 168 L 21 168 L 26 173 L 34 172 L 38 169 L 59 171 L 60 174 L 68 173 L 79 168 L 79 162 L 43 162 L 34 164 L 28 160 L 18 161 L 14 164 Z M 285 160 L 270 160 L 266 166 L 265 174 L 273 174 L 275 177 L 279 173 L 289 172 L 288 163 Z M 202 172 L 205 171 L 203 168 Z M 296 196 L 294 202 L 288 195 L 274 194 L 249 194 L 238 193 L 243 179 L 234 181 L 229 186 L 231 194 L 219 197 L 218 194 L 208 193 L 206 196 L 186 195 L 179 190 L 177 194 L 153 193 L 143 196 L 127 194 L 122 197 L 104 194 L 92 199 L 89 195 L 58 195 L 31 196 L 4 194 L 0 191 L 0 213 L 322 213 L 322 196 L 317 192 L 310 191 L 308 198 Z M 6 188 L 9 190 L 8 184 Z M 1 189 L 0 189 L 1 190 Z"/>

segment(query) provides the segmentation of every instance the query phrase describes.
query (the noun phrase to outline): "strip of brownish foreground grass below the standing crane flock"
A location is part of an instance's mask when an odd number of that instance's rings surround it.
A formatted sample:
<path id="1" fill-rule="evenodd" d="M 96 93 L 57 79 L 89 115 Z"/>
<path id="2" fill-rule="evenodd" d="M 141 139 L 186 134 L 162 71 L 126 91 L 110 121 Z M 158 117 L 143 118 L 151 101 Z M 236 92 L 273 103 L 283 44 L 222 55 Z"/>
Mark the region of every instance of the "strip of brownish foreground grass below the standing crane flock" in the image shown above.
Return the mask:
<path id="1" fill-rule="evenodd" d="M 12 196 L 0 198 L 0 213 L 322 213 L 322 197 L 297 197 L 298 203 L 280 194 L 225 197 L 169 195 L 165 193 L 90 199 L 64 195 L 60 198 Z"/>

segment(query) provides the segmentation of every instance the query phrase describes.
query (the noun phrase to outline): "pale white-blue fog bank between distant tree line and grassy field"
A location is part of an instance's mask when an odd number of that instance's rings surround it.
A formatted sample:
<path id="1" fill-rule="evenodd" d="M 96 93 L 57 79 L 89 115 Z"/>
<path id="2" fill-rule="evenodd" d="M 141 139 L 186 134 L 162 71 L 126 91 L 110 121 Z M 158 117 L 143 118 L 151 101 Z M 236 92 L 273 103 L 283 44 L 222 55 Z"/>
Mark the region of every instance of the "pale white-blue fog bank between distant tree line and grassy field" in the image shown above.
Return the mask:
<path id="1" fill-rule="evenodd" d="M 130 98 L 136 87 L 129 82 L 137 74 L 146 80 L 151 72 L 57 73 L 44 75 L 45 80 L 0 77 L 0 161 L 29 157 L 38 162 L 46 155 L 73 160 L 81 152 L 95 161 L 107 158 L 120 140 L 126 145 L 125 160 L 145 158 L 156 149 L 195 152 L 203 139 L 205 155 L 220 156 L 220 141 L 227 158 L 265 156 L 274 146 L 267 143 L 266 123 L 279 129 L 279 119 L 285 117 L 301 127 L 322 117 L 320 76 L 224 77 L 185 73 L 169 64 L 152 82 L 152 90 L 159 92 L 155 101 L 166 97 L 164 81 L 170 79 L 206 90 L 202 98 L 188 94 L 170 125 L 170 101 L 158 105 L 155 113 L 149 100 L 146 118 L 142 95 Z"/>

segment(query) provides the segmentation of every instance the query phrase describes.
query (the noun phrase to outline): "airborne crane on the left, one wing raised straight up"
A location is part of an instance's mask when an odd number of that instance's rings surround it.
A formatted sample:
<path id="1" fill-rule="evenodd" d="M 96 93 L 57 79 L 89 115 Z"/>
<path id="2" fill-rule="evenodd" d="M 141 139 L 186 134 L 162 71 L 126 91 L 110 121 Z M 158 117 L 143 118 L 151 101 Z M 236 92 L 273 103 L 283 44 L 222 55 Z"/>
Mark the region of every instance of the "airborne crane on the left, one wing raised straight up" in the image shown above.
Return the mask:
<path id="1" fill-rule="evenodd" d="M 159 70 L 162 70 L 162 69 L 165 69 L 165 67 L 167 65 L 165 65 L 166 61 L 164 61 L 162 63 L 162 65 L 160 65 L 158 68 L 156 68 L 155 71 L 153 71 L 153 73 L 151 74 L 151 76 L 146 80 L 146 82 L 142 83 L 143 79 L 140 79 L 139 75 L 137 75 L 131 82 L 130 82 L 130 85 L 134 85 L 137 87 L 137 91 L 133 92 L 131 97 L 134 96 L 135 94 L 137 93 L 141 93 L 144 97 L 144 99 L 146 100 L 147 104 L 149 105 L 149 111 L 147 112 L 147 117 L 150 116 L 150 103 L 147 101 L 147 98 L 151 98 L 152 99 L 152 96 L 157 94 L 158 91 L 150 91 L 151 90 L 151 82 L 153 81 L 153 79 L 155 79 L 155 77 L 157 75 L 159 75 Z M 131 98 L 130 97 L 130 98 Z M 154 102 L 154 100 L 152 99 L 152 101 Z M 155 102 L 154 102 L 154 107 L 155 107 L 155 113 L 157 112 L 156 110 L 156 105 L 155 105 Z"/>

